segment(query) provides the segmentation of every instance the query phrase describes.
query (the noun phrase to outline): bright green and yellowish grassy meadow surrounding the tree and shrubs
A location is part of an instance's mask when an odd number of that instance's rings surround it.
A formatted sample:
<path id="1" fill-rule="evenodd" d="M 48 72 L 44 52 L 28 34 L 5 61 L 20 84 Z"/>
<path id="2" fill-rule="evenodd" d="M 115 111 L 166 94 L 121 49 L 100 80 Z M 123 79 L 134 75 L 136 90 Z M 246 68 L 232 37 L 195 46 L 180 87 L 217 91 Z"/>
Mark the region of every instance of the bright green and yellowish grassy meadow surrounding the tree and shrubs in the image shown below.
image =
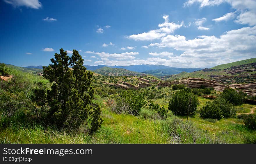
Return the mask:
<path id="1" fill-rule="evenodd" d="M 6 101 L 26 100 L 27 103 L 33 103 L 31 100 L 33 89 L 42 85 L 46 88 L 51 86 L 51 83 L 42 76 L 10 67 L 9 72 L 14 78 L 9 82 L 1 83 L 2 107 L 7 105 Z M 22 113 L 6 118 L 7 113 L 2 109 L 0 143 L 256 143 L 256 131 L 245 127 L 243 120 L 238 117 L 242 113 L 256 112 L 255 105 L 236 106 L 237 115 L 234 118 L 202 119 L 199 111 L 207 101 L 211 100 L 198 97 L 199 104 L 195 116 L 189 116 L 188 121 L 184 116 L 174 116 L 171 111 L 163 118 L 150 111 L 148 103 L 152 101 L 168 109 L 169 100 L 176 91 L 171 87 L 157 87 L 153 84 L 139 90 L 146 93 L 147 105 L 137 116 L 117 114 L 111 110 L 107 101 L 121 92 L 121 89 L 110 87 L 102 81 L 127 80 L 137 84 L 138 80 L 131 77 L 101 75 L 93 78 L 92 85 L 96 94 L 93 101 L 99 103 L 103 118 L 101 127 L 95 133 L 88 134 L 86 125 L 81 126 L 76 132 L 57 129 L 54 125 L 45 126 L 42 122 L 24 118 Z M 144 78 L 153 79 L 152 76 Z M 216 94 L 218 94 L 216 91 L 211 92 L 211 95 Z M 24 112 L 29 110 L 28 107 L 20 108 Z"/>

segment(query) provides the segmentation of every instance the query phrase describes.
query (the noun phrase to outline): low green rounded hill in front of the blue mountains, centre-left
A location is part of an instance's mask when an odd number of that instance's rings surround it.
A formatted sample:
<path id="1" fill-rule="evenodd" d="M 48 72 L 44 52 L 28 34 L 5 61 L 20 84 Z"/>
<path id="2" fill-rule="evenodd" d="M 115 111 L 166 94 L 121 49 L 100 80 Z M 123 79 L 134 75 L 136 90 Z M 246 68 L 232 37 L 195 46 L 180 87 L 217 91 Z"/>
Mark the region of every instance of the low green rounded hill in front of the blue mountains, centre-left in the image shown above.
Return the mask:
<path id="1" fill-rule="evenodd" d="M 100 69 L 96 69 L 93 72 L 105 75 L 105 76 L 138 76 L 143 73 L 129 71 L 127 69 L 122 68 L 110 68 L 110 67 L 102 67 Z"/>

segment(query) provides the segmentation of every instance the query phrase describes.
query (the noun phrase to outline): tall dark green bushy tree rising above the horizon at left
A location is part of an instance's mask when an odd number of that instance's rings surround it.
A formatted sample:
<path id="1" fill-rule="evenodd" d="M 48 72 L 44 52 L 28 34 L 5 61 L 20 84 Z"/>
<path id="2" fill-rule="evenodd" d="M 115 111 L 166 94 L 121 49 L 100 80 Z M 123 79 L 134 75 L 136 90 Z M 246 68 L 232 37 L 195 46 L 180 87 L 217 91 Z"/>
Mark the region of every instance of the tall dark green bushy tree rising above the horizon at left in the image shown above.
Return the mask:
<path id="1" fill-rule="evenodd" d="M 51 90 L 47 92 L 49 103 L 48 119 L 57 127 L 70 127 L 77 129 L 91 113 L 101 118 L 98 107 L 91 106 L 94 89 L 91 86 L 93 73 L 86 71 L 83 59 L 77 50 L 73 50 L 69 57 L 62 48 L 55 53 L 52 64 L 43 66 L 43 76 L 53 82 Z M 69 68 L 69 66 L 73 66 Z M 93 110 L 97 110 L 94 112 Z M 102 121 L 99 121 L 102 122 Z M 100 124 L 94 124 L 100 126 Z M 92 127 L 97 129 L 96 127 Z"/>

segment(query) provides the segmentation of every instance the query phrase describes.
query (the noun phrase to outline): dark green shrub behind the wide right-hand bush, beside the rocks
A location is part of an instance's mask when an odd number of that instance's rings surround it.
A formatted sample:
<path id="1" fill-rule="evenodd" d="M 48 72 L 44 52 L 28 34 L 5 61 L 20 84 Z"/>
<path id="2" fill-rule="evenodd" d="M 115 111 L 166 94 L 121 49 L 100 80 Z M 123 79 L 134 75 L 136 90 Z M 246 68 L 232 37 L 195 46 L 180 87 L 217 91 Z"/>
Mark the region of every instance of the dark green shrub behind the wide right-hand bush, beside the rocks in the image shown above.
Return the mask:
<path id="1" fill-rule="evenodd" d="M 246 93 L 239 91 L 237 92 L 234 89 L 225 88 L 221 93 L 220 97 L 227 99 L 229 102 L 234 105 L 241 105 L 245 100 Z"/>

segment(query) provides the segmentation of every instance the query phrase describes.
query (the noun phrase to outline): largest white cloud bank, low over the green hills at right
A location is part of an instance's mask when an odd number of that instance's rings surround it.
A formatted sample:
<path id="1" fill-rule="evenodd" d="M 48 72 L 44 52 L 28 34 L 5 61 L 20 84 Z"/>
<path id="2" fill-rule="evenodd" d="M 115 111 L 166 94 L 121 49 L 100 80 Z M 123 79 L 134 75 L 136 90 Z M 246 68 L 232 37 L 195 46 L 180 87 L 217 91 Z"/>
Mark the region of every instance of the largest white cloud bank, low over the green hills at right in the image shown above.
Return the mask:
<path id="1" fill-rule="evenodd" d="M 255 57 L 256 26 L 230 30 L 220 37 L 203 35 L 186 39 L 182 35 L 167 35 L 149 46 L 183 51 L 179 56 L 168 56 L 170 59 L 163 65 L 205 68 Z"/>

